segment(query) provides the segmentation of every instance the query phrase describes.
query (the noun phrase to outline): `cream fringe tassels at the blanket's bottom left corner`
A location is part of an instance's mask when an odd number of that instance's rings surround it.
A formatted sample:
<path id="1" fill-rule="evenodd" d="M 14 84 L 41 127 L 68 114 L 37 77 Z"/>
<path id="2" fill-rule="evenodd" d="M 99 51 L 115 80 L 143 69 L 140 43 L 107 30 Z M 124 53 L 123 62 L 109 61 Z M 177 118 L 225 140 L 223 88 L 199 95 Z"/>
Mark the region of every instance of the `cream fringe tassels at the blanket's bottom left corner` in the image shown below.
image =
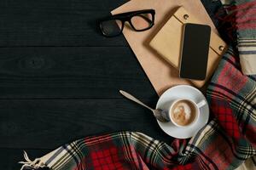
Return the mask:
<path id="1" fill-rule="evenodd" d="M 29 159 L 25 150 L 24 150 L 23 156 L 26 161 L 19 161 L 20 164 L 23 164 L 22 167 L 20 168 L 20 170 L 25 170 L 26 167 L 31 167 L 33 169 L 38 169 L 40 167 L 46 167 L 46 165 L 38 158 L 35 159 L 34 161 Z"/>

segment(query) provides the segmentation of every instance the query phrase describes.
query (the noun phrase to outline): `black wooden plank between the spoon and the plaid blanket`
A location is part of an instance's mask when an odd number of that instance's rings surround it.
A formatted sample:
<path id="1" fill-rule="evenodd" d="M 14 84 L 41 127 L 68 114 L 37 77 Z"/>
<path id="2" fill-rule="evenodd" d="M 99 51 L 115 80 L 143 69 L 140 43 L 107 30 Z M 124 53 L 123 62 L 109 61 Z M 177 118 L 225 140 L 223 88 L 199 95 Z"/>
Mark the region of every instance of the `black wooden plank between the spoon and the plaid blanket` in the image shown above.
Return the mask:
<path id="1" fill-rule="evenodd" d="M 143 99 L 154 107 L 155 100 Z M 138 131 L 166 142 L 151 111 L 128 99 L 2 100 L 0 146 L 54 149 L 74 139 Z"/>

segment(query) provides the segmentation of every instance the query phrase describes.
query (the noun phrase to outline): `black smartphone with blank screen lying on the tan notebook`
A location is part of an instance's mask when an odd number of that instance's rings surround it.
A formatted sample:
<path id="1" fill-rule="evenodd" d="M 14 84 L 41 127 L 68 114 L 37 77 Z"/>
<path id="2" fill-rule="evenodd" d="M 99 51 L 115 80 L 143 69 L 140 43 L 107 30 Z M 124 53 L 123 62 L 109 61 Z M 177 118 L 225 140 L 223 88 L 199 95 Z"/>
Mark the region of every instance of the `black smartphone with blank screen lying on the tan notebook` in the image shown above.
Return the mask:
<path id="1" fill-rule="evenodd" d="M 179 77 L 195 80 L 206 78 L 210 37 L 210 26 L 184 25 Z"/>

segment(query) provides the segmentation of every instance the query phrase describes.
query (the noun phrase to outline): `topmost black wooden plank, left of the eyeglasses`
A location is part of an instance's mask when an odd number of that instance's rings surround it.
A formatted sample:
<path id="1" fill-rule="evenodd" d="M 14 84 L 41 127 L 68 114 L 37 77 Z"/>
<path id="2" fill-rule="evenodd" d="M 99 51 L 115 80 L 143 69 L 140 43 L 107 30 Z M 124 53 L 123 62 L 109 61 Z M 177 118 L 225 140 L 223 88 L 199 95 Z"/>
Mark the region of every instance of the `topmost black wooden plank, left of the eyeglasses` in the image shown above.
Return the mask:
<path id="1" fill-rule="evenodd" d="M 0 2 L 0 47 L 127 46 L 120 36 L 102 37 L 98 20 L 125 0 Z"/>

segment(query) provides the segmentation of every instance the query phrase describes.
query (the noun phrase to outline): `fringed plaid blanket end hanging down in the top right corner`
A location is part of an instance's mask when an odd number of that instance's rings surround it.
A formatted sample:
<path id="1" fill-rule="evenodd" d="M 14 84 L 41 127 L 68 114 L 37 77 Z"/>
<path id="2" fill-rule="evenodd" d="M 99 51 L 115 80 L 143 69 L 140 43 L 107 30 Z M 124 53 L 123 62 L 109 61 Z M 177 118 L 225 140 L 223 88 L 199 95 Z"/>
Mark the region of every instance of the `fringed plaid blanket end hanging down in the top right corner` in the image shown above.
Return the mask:
<path id="1" fill-rule="evenodd" d="M 256 1 L 222 0 L 228 15 L 221 20 L 228 22 L 227 34 L 237 42 L 241 71 L 246 75 L 256 74 Z"/>

